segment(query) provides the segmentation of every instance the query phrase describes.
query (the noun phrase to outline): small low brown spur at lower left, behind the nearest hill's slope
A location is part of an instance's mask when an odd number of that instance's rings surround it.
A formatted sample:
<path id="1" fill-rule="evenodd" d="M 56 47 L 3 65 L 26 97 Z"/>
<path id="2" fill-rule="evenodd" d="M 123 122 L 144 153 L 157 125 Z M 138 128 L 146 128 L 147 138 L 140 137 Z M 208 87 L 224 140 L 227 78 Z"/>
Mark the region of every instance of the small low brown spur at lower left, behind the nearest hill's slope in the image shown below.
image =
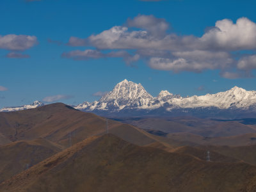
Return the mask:
<path id="1" fill-rule="evenodd" d="M 0 146 L 0 182 L 60 151 L 56 144 L 42 138 Z"/>

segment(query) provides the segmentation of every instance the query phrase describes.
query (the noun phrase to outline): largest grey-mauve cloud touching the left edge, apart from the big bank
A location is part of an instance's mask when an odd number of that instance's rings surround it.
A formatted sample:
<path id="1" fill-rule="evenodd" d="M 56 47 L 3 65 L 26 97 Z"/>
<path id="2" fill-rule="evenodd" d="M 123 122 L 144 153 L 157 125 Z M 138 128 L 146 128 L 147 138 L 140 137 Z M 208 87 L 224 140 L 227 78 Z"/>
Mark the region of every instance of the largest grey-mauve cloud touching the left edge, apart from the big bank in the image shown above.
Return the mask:
<path id="1" fill-rule="evenodd" d="M 29 35 L 0 35 L 0 49 L 24 51 L 36 45 L 36 36 Z"/>

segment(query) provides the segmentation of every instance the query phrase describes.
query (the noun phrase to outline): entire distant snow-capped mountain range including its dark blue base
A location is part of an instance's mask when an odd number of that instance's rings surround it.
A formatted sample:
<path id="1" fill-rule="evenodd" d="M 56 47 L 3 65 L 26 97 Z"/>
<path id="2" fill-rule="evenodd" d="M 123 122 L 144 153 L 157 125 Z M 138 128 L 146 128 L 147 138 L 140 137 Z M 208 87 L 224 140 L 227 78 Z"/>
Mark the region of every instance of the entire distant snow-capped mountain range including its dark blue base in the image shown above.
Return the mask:
<path id="1" fill-rule="evenodd" d="M 31 105 L 3 108 L 0 111 L 17 111 L 42 105 L 42 102 L 36 101 Z M 140 83 L 125 79 L 99 100 L 72 107 L 103 116 L 255 117 L 256 92 L 234 86 L 226 92 L 202 96 L 181 97 L 163 90 L 157 97 L 152 97 Z"/>

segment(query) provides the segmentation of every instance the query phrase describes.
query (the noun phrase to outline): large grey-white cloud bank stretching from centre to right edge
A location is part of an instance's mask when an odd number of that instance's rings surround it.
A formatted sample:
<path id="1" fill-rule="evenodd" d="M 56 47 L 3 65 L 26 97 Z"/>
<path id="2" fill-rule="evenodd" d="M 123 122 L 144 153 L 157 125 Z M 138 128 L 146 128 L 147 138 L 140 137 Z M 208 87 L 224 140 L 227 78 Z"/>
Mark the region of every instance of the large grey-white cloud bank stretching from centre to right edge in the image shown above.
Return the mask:
<path id="1" fill-rule="evenodd" d="M 70 37 L 68 45 L 95 47 L 94 51 L 74 51 L 72 59 L 122 57 L 127 63 L 143 59 L 157 70 L 174 72 L 220 70 L 222 77 L 252 76 L 255 56 L 235 56 L 233 51 L 256 49 L 256 24 L 242 17 L 218 20 L 202 36 L 168 33 L 168 22 L 154 15 L 138 15 L 123 26 L 113 26 L 88 38 Z M 131 51 L 134 55 L 130 54 Z M 106 51 L 109 53 L 103 53 Z M 236 72 L 232 72 L 236 71 Z"/>

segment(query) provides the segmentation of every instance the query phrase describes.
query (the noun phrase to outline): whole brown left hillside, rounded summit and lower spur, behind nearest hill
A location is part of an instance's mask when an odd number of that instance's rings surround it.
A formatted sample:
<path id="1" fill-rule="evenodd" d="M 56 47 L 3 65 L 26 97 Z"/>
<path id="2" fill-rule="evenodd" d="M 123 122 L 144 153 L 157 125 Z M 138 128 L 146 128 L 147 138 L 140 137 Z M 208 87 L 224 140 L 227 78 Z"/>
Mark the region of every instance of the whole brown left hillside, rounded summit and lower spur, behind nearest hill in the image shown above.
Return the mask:
<path id="1" fill-rule="evenodd" d="M 147 132 L 114 120 L 108 120 L 108 132 L 137 145 L 155 142 Z M 63 148 L 105 133 L 106 118 L 61 103 L 0 113 L 0 182 Z"/>

